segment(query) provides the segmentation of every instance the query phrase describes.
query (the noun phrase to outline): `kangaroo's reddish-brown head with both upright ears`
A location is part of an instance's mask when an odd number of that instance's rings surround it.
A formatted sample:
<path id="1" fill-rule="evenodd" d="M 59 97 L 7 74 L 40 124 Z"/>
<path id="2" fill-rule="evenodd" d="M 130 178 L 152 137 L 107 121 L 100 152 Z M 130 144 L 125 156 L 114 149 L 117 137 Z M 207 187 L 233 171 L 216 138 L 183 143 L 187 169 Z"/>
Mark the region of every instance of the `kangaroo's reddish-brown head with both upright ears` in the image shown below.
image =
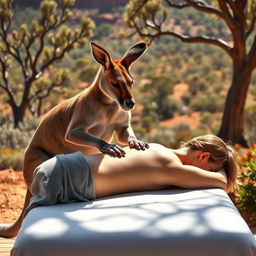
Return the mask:
<path id="1" fill-rule="evenodd" d="M 133 78 L 129 73 L 131 64 L 146 50 L 145 43 L 139 43 L 130 48 L 120 60 L 112 60 L 109 53 L 100 45 L 91 42 L 92 55 L 102 65 L 101 90 L 118 102 L 121 108 L 129 111 L 134 108 L 135 100 L 132 92 Z"/>

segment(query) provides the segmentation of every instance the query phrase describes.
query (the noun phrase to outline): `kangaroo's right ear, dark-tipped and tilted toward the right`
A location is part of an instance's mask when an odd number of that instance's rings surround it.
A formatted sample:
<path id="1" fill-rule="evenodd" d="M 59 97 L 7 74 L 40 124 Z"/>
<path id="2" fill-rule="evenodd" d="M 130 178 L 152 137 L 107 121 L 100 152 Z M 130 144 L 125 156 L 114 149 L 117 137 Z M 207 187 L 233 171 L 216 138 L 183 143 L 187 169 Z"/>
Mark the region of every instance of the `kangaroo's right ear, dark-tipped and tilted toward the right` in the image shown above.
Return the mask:
<path id="1" fill-rule="evenodd" d="M 121 64 L 129 69 L 130 65 L 136 61 L 142 53 L 146 50 L 147 45 L 145 43 L 139 43 L 130 48 L 121 59 Z"/>

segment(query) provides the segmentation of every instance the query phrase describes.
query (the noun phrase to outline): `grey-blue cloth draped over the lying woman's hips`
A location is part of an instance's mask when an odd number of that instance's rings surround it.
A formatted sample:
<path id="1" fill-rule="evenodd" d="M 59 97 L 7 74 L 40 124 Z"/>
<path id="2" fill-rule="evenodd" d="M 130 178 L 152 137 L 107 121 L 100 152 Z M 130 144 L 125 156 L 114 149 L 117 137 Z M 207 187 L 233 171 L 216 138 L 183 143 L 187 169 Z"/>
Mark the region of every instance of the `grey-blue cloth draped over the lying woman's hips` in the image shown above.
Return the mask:
<path id="1" fill-rule="evenodd" d="M 39 165 L 31 185 L 32 198 L 24 216 L 39 205 L 95 199 L 90 166 L 81 152 L 57 155 Z"/>

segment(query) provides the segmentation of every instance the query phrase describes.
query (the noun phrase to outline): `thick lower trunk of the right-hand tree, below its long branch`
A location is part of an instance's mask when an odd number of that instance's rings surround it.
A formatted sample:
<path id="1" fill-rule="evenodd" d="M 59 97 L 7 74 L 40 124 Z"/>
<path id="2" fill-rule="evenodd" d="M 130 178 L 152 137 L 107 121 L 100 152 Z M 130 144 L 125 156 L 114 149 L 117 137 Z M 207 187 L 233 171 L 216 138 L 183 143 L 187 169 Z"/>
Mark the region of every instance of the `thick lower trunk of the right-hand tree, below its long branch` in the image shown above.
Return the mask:
<path id="1" fill-rule="evenodd" d="M 237 64 L 237 63 L 236 63 Z M 244 137 L 244 107 L 250 84 L 251 71 L 247 65 L 233 69 L 233 79 L 226 98 L 218 136 L 232 144 L 248 147 Z"/>

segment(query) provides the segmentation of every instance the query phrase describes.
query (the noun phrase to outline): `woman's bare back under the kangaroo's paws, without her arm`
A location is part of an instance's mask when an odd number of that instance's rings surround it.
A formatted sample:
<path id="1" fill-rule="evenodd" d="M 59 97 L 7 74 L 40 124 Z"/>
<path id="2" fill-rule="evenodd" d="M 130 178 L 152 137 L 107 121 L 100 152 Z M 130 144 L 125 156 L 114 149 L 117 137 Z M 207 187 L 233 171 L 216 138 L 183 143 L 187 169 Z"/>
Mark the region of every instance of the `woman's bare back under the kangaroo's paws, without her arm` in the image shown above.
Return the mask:
<path id="1" fill-rule="evenodd" d="M 159 144 L 150 144 L 145 151 L 126 147 L 125 152 L 126 156 L 121 159 L 102 154 L 86 156 L 93 173 L 96 197 L 162 189 L 167 164 L 179 161 L 172 150 Z"/>

